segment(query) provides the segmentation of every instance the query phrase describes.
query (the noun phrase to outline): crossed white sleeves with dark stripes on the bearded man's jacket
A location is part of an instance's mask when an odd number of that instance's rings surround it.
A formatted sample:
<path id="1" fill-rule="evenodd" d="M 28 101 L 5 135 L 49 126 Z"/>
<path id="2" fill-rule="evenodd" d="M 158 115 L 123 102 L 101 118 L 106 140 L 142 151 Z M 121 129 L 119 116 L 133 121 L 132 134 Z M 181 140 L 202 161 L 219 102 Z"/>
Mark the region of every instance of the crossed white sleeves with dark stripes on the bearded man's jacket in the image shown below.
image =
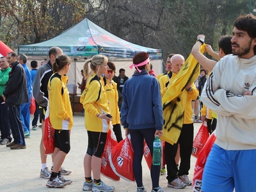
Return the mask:
<path id="1" fill-rule="evenodd" d="M 229 90 L 221 88 L 223 67 L 225 65 L 219 61 L 212 70 L 201 95 L 202 102 L 218 115 L 235 115 L 244 119 L 256 118 L 256 93 L 249 96 L 234 95 Z M 252 84 L 251 89 L 255 87 L 256 82 Z"/>

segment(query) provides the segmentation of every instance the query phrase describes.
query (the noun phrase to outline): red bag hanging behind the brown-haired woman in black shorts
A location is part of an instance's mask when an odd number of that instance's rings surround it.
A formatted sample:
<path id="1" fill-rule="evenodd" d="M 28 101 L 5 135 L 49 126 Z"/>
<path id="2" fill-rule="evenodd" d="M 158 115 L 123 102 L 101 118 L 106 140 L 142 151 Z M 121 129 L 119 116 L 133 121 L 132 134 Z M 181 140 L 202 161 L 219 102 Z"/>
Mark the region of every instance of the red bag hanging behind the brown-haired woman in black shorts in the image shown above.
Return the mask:
<path id="1" fill-rule="evenodd" d="M 55 148 L 54 142 L 54 132 L 55 129 L 52 127 L 49 117 L 49 106 L 47 106 L 47 110 L 45 113 L 45 120 L 44 120 L 44 148 L 45 148 L 45 155 L 53 154 Z"/>

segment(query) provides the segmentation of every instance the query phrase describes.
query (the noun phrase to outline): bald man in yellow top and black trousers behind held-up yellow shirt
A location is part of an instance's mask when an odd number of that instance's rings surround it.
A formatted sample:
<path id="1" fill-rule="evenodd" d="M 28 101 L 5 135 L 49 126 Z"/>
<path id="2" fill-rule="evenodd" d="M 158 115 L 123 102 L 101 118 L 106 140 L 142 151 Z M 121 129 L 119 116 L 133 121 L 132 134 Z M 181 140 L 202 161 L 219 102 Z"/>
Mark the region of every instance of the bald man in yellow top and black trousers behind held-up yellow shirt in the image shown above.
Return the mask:
<path id="1" fill-rule="evenodd" d="M 180 72 L 180 68 L 184 64 L 184 57 L 180 54 L 175 54 L 171 58 L 172 63 L 172 81 L 173 78 L 177 76 Z M 179 140 L 177 143 L 171 145 L 165 142 L 164 154 L 167 166 L 167 177 L 168 187 L 175 189 L 186 188 L 190 186 L 192 182 L 188 178 L 188 172 L 190 169 L 190 157 L 193 148 L 193 136 L 194 136 L 194 126 L 193 126 L 193 111 L 191 108 L 191 100 L 195 100 L 198 96 L 198 90 L 195 84 L 188 83 L 183 92 L 186 93 L 186 106 L 184 109 L 183 125 L 180 132 Z M 178 144 L 180 144 L 180 166 L 177 169 L 175 163 L 175 156 L 177 154 Z"/>

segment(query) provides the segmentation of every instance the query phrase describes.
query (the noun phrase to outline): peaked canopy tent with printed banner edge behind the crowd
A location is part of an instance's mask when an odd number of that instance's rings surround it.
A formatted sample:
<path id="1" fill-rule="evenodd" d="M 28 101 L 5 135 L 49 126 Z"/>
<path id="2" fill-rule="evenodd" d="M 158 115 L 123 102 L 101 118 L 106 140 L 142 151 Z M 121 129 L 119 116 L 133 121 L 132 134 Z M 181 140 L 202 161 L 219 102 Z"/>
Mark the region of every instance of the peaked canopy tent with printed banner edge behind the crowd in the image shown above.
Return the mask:
<path id="1" fill-rule="evenodd" d="M 88 19 L 84 19 L 60 35 L 45 42 L 31 45 L 19 45 L 18 54 L 26 54 L 29 60 L 41 60 L 48 56 L 49 49 L 60 47 L 64 54 L 72 57 L 74 67 L 68 72 L 68 83 L 81 82 L 80 74 L 86 58 L 95 54 L 107 56 L 116 65 L 116 71 L 125 68 L 125 74 L 132 76 L 134 69 L 130 69 L 131 58 L 138 52 L 148 52 L 150 62 L 156 74 L 162 72 L 162 50 L 143 47 L 127 42 L 115 36 Z M 116 74 L 118 76 L 118 74 Z"/>

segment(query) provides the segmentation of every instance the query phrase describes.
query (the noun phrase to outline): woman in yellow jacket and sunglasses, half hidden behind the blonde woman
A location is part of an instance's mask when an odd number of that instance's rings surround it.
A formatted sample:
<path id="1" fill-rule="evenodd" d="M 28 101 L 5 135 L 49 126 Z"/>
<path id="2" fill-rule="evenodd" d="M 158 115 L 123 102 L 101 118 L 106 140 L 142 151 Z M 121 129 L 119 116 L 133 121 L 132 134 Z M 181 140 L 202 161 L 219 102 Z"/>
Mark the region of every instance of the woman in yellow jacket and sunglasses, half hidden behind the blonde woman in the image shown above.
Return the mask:
<path id="1" fill-rule="evenodd" d="M 118 108 L 118 92 L 117 84 L 113 81 L 113 76 L 115 74 L 115 64 L 111 61 L 108 61 L 108 70 L 105 73 L 105 76 L 102 78 L 105 88 L 105 92 L 108 96 L 109 101 L 109 111 L 113 116 L 112 125 L 113 131 L 115 132 L 116 140 L 118 143 L 123 140 L 122 131 L 120 126 L 120 112 Z"/>

